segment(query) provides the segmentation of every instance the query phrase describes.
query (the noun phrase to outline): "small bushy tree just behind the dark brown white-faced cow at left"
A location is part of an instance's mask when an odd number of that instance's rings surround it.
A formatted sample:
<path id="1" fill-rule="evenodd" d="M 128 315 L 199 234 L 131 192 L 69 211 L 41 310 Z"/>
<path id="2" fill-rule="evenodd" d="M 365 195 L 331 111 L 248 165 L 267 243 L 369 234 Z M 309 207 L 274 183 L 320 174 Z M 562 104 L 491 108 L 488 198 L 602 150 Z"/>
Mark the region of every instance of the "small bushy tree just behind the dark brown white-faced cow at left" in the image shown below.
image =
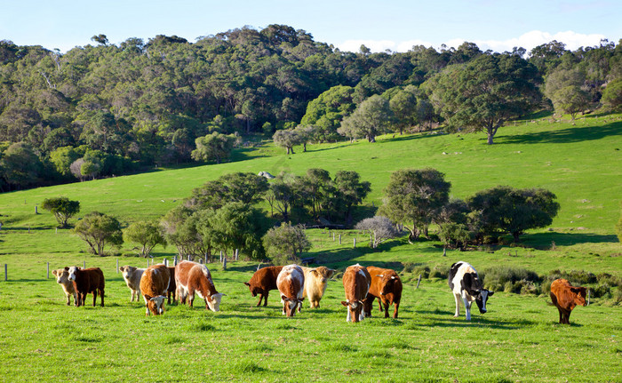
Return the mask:
<path id="1" fill-rule="evenodd" d="M 92 211 L 79 220 L 74 232 L 90 247 L 93 254 L 104 255 L 107 244 L 120 246 L 124 243 L 121 224 L 112 216 Z"/>

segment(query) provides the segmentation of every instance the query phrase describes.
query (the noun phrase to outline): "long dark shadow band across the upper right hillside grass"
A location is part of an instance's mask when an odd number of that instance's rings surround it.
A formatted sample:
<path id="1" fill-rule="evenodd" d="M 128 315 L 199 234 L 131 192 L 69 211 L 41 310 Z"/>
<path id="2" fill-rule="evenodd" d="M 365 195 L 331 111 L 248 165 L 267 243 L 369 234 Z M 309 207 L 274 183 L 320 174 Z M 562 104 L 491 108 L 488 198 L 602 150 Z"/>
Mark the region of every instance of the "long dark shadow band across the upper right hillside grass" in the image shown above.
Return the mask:
<path id="1" fill-rule="evenodd" d="M 622 136 L 622 123 L 618 122 L 599 126 L 573 127 L 557 131 L 534 132 L 530 134 L 499 137 L 497 145 L 571 143 L 588 140 L 601 140 L 610 136 Z"/>

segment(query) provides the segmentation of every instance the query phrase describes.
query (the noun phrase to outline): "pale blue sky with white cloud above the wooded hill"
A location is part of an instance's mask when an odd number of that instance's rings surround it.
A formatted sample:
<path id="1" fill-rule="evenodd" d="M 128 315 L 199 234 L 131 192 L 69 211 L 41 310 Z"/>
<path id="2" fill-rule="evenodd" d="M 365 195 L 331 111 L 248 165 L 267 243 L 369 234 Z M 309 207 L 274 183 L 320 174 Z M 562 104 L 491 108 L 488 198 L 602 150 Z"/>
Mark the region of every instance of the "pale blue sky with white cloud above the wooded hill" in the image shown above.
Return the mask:
<path id="1" fill-rule="evenodd" d="M 146 43 L 156 35 L 199 36 L 229 29 L 283 24 L 304 29 L 316 42 L 341 51 L 407 52 L 413 45 L 458 47 L 467 41 L 482 51 L 528 52 L 552 40 L 576 50 L 606 38 L 622 38 L 620 0 L 0 0 L 0 40 L 43 45 L 67 52 L 130 37 Z"/>

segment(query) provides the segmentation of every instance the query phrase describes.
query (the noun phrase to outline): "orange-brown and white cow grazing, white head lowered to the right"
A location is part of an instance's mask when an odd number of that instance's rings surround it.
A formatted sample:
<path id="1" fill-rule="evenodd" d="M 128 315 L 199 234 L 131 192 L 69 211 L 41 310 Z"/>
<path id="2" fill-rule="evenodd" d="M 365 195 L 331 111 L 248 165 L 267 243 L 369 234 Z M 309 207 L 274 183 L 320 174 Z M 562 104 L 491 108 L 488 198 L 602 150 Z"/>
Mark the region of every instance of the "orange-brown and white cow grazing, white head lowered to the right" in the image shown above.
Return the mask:
<path id="1" fill-rule="evenodd" d="M 225 294 L 216 291 L 211 281 L 210 270 L 200 263 L 182 260 L 175 267 L 175 284 L 177 284 L 177 299 L 181 304 L 192 307 L 195 301 L 195 292 L 205 300 L 205 309 L 219 311 L 220 299 Z"/>

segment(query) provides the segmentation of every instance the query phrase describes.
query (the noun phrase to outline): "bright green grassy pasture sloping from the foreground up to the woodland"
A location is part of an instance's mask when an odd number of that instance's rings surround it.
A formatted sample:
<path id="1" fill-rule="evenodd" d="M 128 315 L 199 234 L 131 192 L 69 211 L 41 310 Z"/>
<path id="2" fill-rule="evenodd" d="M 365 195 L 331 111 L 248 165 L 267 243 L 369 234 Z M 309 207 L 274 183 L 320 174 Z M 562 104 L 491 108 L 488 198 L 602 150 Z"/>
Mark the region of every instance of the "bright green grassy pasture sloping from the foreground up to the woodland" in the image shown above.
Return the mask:
<path id="1" fill-rule="evenodd" d="M 518 122 L 499 130 L 496 144 L 482 135 L 415 134 L 381 137 L 369 144 L 313 145 L 285 156 L 267 145 L 236 153 L 238 162 L 161 170 L 107 180 L 0 195 L 0 380 L 2 381 L 622 381 L 622 307 L 593 299 L 578 307 L 570 326 L 557 324 L 546 294 L 498 291 L 486 315 L 453 317 L 453 297 L 444 279 L 405 273 L 405 264 L 449 268 L 467 260 L 480 271 L 506 265 L 546 275 L 554 269 L 622 276 L 622 246 L 614 233 L 622 199 L 620 116 L 588 116 L 575 124 Z M 124 224 L 157 219 L 206 180 L 227 172 L 281 171 L 302 174 L 321 167 L 360 172 L 372 184 L 367 211 L 379 206 L 390 173 L 431 166 L 446 174 L 452 195 L 482 188 L 541 187 L 558 196 L 562 209 L 550 229 L 530 231 L 522 246 L 480 251 L 443 251 L 434 241 L 403 239 L 372 251 L 354 231 L 339 231 L 342 244 L 321 229 L 308 232 L 307 256 L 343 269 L 360 262 L 403 273 L 400 318 L 374 317 L 346 323 L 339 278 L 329 283 L 322 307 L 295 318 L 281 315 L 273 291 L 268 307 L 254 307 L 243 282 L 257 263 L 210 265 L 216 287 L 227 294 L 221 311 L 167 307 L 146 318 L 144 305 L 130 303 L 116 262 L 146 266 L 129 256 L 95 257 L 68 230 L 55 229 L 44 198 L 65 195 Z M 74 219 L 75 221 L 75 219 Z M 353 239 L 357 246 L 353 248 Z M 122 252 L 131 253 L 125 244 Z M 156 248 L 156 261 L 174 248 Z M 107 278 L 106 307 L 66 307 L 50 268 L 101 267 Z M 91 296 L 87 302 L 91 301 Z M 198 301 L 197 301 L 198 302 Z"/>

